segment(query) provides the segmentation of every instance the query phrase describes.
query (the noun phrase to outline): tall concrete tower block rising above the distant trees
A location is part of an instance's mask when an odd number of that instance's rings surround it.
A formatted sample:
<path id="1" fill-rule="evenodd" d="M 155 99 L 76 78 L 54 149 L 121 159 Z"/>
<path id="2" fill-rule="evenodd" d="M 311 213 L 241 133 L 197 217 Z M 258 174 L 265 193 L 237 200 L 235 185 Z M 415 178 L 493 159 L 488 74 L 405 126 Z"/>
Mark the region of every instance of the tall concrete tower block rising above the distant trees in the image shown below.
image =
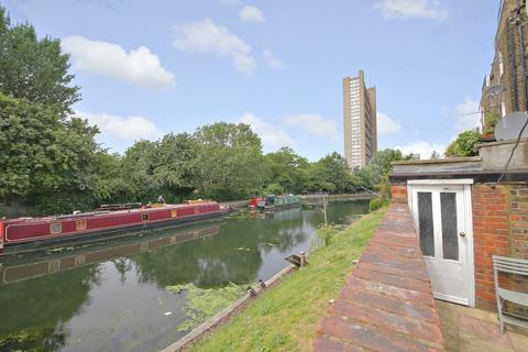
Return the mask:
<path id="1" fill-rule="evenodd" d="M 344 157 L 350 168 L 369 165 L 377 151 L 376 88 L 366 88 L 365 75 L 343 78 Z"/>

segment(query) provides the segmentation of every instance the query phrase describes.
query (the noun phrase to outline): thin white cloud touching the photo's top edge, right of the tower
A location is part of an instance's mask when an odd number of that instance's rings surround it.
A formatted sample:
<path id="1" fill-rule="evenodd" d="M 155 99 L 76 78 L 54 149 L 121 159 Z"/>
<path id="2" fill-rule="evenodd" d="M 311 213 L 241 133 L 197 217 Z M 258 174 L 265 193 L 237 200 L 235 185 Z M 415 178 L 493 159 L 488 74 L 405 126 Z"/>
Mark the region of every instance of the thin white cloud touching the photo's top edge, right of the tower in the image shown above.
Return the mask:
<path id="1" fill-rule="evenodd" d="M 381 0 L 374 3 L 387 19 L 422 18 L 443 21 L 449 12 L 439 0 Z"/>

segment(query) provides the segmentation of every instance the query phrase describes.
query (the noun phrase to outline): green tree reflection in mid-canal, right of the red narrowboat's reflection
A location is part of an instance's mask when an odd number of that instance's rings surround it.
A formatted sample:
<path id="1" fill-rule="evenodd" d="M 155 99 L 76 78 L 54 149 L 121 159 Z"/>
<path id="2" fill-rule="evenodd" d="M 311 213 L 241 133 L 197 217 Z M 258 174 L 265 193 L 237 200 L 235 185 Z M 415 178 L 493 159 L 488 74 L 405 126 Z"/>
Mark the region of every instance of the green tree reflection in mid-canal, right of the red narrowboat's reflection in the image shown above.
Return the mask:
<path id="1" fill-rule="evenodd" d="M 262 255 L 280 252 L 306 241 L 310 230 L 300 209 L 270 215 L 234 217 L 215 237 L 165 248 L 132 257 L 143 280 L 160 286 L 194 283 L 199 287 L 256 280 Z M 310 227 L 311 228 L 311 227 Z"/>

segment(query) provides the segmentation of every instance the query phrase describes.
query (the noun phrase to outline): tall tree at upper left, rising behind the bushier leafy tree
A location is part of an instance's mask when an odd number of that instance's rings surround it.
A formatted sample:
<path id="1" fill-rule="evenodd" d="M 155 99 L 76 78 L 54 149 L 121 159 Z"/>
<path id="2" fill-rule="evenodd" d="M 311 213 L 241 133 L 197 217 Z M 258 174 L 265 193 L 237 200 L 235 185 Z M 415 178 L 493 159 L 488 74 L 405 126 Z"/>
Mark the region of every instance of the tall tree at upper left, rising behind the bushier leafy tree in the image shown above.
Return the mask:
<path id="1" fill-rule="evenodd" d="M 0 92 L 70 112 L 80 94 L 70 86 L 75 76 L 68 74 L 68 59 L 58 40 L 38 40 L 28 23 L 11 25 L 0 6 Z"/>

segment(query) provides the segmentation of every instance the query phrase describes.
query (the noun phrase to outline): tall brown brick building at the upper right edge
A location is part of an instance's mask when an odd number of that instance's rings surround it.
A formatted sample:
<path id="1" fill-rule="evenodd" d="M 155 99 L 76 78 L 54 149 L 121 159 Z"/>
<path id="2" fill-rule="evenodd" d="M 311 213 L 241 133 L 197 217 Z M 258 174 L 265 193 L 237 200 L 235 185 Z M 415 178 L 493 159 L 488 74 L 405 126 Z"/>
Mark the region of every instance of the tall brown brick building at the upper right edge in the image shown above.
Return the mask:
<path id="1" fill-rule="evenodd" d="M 526 111 L 528 26 L 526 0 L 504 0 L 495 34 L 495 57 L 482 85 L 481 112 L 484 134 L 514 111 Z"/>

